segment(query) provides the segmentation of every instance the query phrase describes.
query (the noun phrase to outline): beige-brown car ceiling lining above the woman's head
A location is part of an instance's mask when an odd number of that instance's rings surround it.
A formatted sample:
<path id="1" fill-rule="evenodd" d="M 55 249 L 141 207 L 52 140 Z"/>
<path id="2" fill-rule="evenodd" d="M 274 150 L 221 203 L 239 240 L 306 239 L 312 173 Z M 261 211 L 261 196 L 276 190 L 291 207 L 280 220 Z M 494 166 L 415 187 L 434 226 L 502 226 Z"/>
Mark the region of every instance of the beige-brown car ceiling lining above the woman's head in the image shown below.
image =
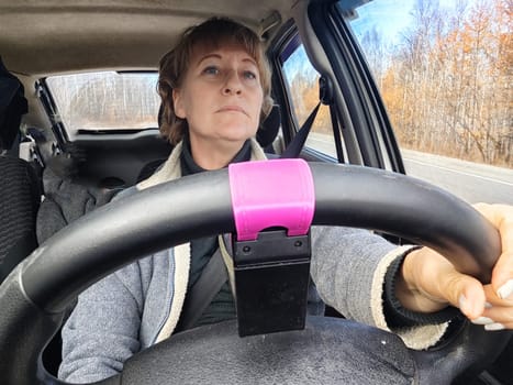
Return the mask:
<path id="1" fill-rule="evenodd" d="M 294 0 L 0 0 L 0 55 L 43 77 L 98 68 L 155 69 L 187 26 L 219 14 L 261 32 Z"/>

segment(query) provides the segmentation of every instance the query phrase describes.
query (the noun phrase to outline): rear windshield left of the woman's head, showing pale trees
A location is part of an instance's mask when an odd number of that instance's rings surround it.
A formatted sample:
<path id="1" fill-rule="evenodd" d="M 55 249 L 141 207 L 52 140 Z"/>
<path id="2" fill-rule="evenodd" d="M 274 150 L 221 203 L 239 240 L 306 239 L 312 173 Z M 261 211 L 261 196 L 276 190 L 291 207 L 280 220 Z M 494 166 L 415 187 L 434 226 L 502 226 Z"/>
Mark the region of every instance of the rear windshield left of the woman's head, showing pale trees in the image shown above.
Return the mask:
<path id="1" fill-rule="evenodd" d="M 68 136 L 157 127 L 157 73 L 86 73 L 46 78 Z"/>

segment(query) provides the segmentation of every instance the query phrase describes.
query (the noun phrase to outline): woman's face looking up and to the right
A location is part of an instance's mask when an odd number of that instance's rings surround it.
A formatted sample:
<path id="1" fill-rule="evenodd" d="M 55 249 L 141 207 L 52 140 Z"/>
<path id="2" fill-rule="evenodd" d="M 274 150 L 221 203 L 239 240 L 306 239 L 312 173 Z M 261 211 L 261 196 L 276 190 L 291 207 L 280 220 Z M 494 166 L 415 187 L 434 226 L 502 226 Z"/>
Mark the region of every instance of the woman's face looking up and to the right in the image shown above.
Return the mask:
<path id="1" fill-rule="evenodd" d="M 175 113 L 189 124 L 191 145 L 241 145 L 256 134 L 264 92 L 255 59 L 241 46 L 194 50 Z"/>

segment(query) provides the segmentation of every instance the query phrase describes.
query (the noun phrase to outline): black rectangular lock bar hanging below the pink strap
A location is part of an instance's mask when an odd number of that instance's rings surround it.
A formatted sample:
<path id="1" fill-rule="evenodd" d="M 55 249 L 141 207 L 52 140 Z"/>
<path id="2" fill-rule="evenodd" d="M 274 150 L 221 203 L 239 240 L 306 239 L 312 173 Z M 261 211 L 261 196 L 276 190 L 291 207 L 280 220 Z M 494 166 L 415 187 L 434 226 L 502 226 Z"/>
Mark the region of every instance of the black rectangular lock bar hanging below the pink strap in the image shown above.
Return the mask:
<path id="1" fill-rule="evenodd" d="M 310 233 L 264 231 L 255 241 L 234 241 L 233 253 L 238 334 L 304 329 Z"/>

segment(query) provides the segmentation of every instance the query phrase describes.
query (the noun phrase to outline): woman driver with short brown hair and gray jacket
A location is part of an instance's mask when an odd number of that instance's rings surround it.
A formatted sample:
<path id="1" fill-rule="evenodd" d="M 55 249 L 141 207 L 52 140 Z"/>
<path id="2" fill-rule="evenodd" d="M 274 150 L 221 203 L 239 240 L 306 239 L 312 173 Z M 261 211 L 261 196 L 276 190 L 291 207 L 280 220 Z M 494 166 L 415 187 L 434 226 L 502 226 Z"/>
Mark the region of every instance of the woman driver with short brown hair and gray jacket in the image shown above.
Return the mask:
<path id="1" fill-rule="evenodd" d="M 137 189 L 265 158 L 254 138 L 270 110 L 270 72 L 254 32 L 231 20 L 208 20 L 185 32 L 160 61 L 159 74 L 161 131 L 176 146 Z M 358 229 L 314 228 L 311 273 L 323 299 L 348 318 L 393 328 L 416 349 L 436 343 L 444 333 L 445 321 L 454 317 L 448 305 L 489 330 L 513 328 L 513 300 L 508 299 L 513 292 L 513 209 L 479 209 L 503 240 L 491 285 L 457 273 L 426 248 L 397 248 Z M 59 377 L 78 383 L 109 377 L 131 355 L 180 329 L 186 293 L 216 248 L 216 238 L 179 245 L 85 292 L 63 329 Z M 226 282 L 194 326 L 233 318 Z"/>

